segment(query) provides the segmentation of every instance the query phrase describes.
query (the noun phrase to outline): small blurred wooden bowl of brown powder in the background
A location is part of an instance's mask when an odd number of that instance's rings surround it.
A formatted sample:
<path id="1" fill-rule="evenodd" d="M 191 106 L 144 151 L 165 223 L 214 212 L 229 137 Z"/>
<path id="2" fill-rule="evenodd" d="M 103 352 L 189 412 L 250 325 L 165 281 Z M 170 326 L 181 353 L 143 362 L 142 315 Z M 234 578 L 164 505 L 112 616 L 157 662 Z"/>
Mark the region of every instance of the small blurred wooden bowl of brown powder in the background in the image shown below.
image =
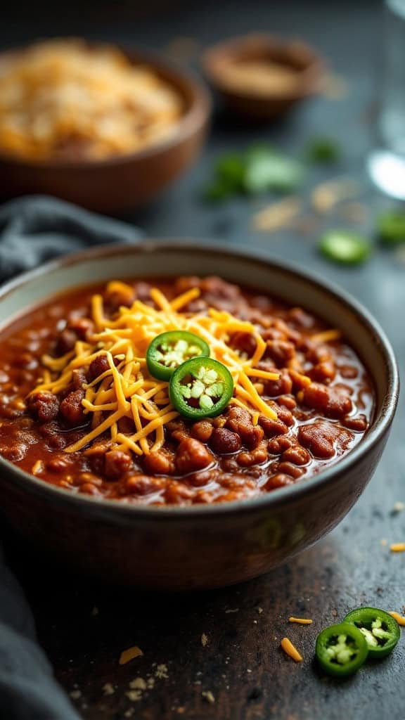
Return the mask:
<path id="1" fill-rule="evenodd" d="M 231 112 L 250 120 L 271 120 L 287 112 L 293 105 L 316 94 L 321 89 L 324 62 L 315 50 L 303 42 L 280 40 L 271 35 L 246 35 L 226 40 L 213 46 L 203 55 L 203 68 Z M 273 72 L 279 72 L 278 85 L 273 81 L 268 87 L 242 81 L 230 73 L 238 66 L 248 64 L 259 71 L 260 65 L 269 63 Z M 284 73 L 280 78 L 280 73 Z M 296 76 L 294 78 L 294 76 Z"/>

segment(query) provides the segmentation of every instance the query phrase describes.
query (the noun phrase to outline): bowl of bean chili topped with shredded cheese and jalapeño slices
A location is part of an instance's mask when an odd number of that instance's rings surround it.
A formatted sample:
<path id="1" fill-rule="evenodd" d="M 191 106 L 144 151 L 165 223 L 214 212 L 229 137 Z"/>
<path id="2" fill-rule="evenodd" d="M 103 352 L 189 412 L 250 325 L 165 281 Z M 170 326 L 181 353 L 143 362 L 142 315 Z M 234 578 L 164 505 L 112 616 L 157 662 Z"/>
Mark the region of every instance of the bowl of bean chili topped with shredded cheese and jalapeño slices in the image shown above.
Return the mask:
<path id="1" fill-rule="evenodd" d="M 368 311 L 259 253 L 93 248 L 6 284 L 0 323 L 1 514 L 112 582 L 213 588 L 302 552 L 396 409 Z"/>

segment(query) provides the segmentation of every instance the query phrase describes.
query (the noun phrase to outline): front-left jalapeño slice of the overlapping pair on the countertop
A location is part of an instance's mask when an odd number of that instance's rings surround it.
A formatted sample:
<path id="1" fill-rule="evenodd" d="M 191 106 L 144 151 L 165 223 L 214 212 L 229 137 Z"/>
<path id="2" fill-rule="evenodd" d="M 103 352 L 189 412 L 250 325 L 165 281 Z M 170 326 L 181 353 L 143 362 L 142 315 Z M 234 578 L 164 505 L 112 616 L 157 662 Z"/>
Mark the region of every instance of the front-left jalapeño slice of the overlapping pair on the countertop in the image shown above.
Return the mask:
<path id="1" fill-rule="evenodd" d="M 325 672 L 344 678 L 363 665 L 368 656 L 368 644 L 355 625 L 341 623 L 319 633 L 315 653 Z"/>

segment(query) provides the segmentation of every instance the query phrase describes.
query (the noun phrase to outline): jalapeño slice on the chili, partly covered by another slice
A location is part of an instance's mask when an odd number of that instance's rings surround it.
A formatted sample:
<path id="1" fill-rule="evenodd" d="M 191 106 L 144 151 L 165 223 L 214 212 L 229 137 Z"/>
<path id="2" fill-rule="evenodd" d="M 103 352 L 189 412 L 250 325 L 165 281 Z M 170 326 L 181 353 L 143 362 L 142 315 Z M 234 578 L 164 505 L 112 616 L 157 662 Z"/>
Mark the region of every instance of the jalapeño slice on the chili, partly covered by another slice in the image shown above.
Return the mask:
<path id="1" fill-rule="evenodd" d="M 198 356 L 209 356 L 208 344 L 187 330 L 169 330 L 157 335 L 146 352 L 148 371 L 159 380 L 169 380 L 179 365 Z"/>

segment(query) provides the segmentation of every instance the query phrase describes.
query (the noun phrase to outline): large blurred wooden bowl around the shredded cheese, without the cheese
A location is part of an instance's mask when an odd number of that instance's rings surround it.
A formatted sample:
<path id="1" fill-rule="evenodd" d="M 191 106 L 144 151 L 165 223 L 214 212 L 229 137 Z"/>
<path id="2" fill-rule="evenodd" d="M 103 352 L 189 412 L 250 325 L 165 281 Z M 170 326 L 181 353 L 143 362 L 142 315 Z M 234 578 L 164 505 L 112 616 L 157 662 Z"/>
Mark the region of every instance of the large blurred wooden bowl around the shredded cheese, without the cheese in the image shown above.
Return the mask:
<path id="1" fill-rule="evenodd" d="M 138 50 L 125 50 L 125 55 L 148 65 L 182 97 L 184 115 L 174 135 L 145 150 L 100 161 L 36 162 L 0 155 L 0 197 L 49 194 L 89 210 L 121 212 L 150 200 L 195 161 L 210 116 L 205 86 L 155 55 Z"/>

